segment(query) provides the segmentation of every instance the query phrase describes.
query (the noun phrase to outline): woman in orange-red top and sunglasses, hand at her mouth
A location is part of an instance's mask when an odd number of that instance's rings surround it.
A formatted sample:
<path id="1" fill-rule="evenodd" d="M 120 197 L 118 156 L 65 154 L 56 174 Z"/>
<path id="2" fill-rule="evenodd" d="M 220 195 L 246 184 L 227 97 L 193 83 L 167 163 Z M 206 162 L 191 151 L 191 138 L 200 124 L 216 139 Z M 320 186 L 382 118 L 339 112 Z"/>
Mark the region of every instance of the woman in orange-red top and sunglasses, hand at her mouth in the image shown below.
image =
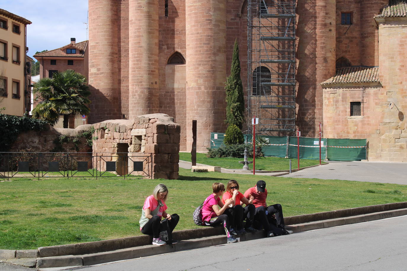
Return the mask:
<path id="1" fill-rule="evenodd" d="M 234 205 L 229 207 L 234 209 L 234 225 L 236 228 L 230 230 L 232 234 L 245 234 L 246 232 L 257 232 L 252 227 L 254 212 L 256 207 L 253 205 L 253 197 L 250 199 L 245 198 L 241 192 L 239 192 L 239 184 L 236 180 L 230 180 L 226 186 L 226 192 L 222 196 L 222 202 L 225 204 L 226 199 L 232 198 Z M 246 204 L 243 208 L 241 204 Z M 243 220 L 246 219 L 245 228 L 243 229 Z"/>

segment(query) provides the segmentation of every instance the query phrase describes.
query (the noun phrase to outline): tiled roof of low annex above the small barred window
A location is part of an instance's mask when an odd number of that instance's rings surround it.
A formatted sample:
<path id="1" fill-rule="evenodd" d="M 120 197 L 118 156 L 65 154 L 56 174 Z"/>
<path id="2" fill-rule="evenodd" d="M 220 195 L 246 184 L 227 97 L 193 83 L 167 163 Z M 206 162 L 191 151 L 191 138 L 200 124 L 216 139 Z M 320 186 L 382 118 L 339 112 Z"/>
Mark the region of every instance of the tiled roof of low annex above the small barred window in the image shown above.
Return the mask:
<path id="1" fill-rule="evenodd" d="M 336 69 L 335 76 L 321 85 L 371 82 L 379 82 L 379 67 L 351 66 Z"/>

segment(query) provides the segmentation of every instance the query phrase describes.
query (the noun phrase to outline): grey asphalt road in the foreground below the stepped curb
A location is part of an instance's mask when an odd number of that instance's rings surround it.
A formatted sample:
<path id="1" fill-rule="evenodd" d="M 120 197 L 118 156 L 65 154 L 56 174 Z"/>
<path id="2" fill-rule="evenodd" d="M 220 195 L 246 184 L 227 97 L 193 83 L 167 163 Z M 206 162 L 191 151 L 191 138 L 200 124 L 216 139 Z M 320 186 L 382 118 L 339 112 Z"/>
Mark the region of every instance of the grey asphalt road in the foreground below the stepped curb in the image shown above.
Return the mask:
<path id="1" fill-rule="evenodd" d="M 405 271 L 406 224 L 394 217 L 75 270 Z"/>

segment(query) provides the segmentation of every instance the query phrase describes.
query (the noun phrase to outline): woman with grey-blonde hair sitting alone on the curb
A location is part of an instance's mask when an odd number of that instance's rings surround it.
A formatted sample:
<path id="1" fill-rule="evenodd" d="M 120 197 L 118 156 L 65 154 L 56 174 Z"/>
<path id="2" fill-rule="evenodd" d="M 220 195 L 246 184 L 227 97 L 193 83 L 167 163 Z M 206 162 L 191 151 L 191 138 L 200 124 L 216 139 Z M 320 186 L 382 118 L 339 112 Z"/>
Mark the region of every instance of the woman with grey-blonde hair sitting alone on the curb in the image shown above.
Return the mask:
<path id="1" fill-rule="evenodd" d="M 160 239 L 161 218 L 168 219 L 168 227 L 173 232 L 178 224 L 179 216 L 177 214 L 170 215 L 166 212 L 167 205 L 165 201 L 168 197 L 168 189 L 164 184 L 155 186 L 153 195 L 147 197 L 144 201 L 144 206 L 141 211 L 140 231 L 143 234 L 153 236 L 153 245 L 165 245 L 166 242 Z M 173 244 L 177 241 L 173 240 Z"/>

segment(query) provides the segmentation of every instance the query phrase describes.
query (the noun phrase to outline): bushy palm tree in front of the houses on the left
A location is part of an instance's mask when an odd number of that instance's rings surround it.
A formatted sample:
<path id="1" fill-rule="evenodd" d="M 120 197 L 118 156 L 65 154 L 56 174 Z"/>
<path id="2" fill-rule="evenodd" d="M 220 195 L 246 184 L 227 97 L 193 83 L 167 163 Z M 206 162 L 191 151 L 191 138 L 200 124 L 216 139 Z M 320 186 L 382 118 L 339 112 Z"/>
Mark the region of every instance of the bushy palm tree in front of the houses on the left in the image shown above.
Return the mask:
<path id="1" fill-rule="evenodd" d="M 57 72 L 52 78 L 40 79 L 34 84 L 33 92 L 42 102 L 33 109 L 33 117 L 54 125 L 63 115 L 63 128 L 68 128 L 69 115 L 89 114 L 86 106 L 90 104 L 88 89 L 85 76 L 73 69 Z"/>

